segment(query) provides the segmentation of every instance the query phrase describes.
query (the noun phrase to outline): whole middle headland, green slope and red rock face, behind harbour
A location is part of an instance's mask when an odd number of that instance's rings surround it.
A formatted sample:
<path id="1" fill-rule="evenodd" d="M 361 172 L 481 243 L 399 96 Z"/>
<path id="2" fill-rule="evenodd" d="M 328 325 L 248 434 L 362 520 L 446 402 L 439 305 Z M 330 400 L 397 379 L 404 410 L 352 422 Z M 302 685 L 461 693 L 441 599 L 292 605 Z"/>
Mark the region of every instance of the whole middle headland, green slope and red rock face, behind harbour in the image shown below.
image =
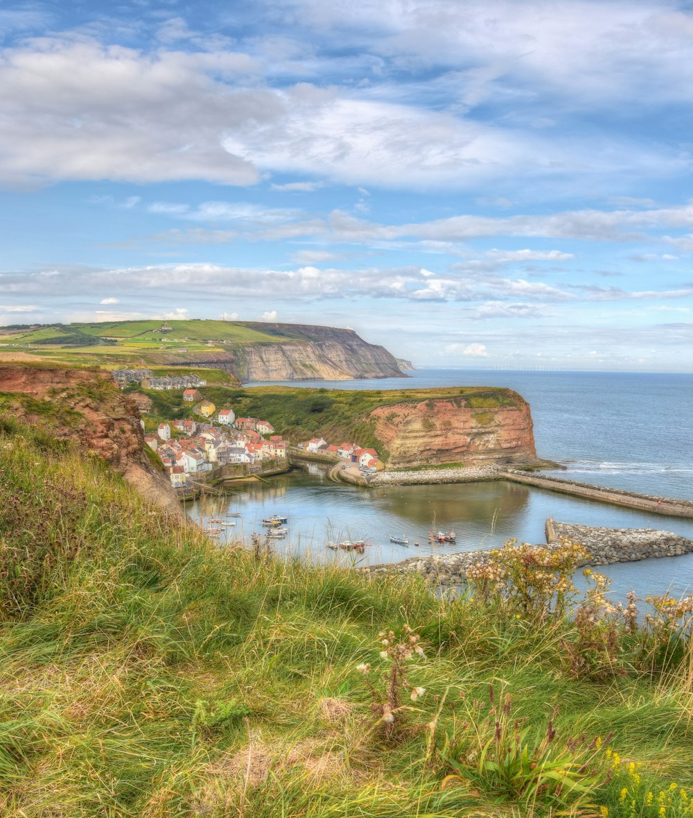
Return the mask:
<path id="1" fill-rule="evenodd" d="M 235 400 L 235 411 L 269 417 L 297 443 L 321 436 L 329 443 L 373 447 L 388 469 L 537 463 L 530 407 L 511 389 L 254 387 Z"/>

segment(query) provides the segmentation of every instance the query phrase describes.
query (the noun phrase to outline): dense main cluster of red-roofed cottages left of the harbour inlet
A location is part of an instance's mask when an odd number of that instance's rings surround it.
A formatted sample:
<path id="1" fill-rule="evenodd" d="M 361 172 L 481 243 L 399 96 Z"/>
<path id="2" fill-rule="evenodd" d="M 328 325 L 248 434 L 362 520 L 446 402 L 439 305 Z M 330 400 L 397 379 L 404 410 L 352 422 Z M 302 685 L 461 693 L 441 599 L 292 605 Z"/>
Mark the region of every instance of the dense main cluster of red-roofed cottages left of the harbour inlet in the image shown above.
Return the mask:
<path id="1" fill-rule="evenodd" d="M 222 410 L 226 411 L 230 410 Z M 243 429 L 230 429 L 227 420 L 221 420 L 226 425 L 226 429 L 221 429 L 194 420 L 174 420 L 170 424 L 159 424 L 157 434 L 145 437 L 145 443 L 159 456 L 174 488 L 185 487 L 190 474 L 203 474 L 215 466 L 252 465 L 286 457 L 287 443 L 280 434 L 272 434 L 269 439 L 262 437 L 274 431 L 270 423 L 248 418 L 239 420 L 256 420 L 256 423 Z M 186 437 L 175 438 L 172 429 Z"/>

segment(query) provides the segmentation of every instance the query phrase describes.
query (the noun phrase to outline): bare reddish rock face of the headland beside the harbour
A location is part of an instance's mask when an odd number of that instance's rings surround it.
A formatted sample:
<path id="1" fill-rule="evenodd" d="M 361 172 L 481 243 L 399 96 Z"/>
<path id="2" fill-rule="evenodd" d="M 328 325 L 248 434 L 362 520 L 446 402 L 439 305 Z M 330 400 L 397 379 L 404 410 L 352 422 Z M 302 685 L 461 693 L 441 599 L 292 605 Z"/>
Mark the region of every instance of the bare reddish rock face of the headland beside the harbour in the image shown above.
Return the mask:
<path id="1" fill-rule="evenodd" d="M 463 398 L 432 398 L 374 409 L 376 437 L 390 452 L 387 467 L 536 462 L 530 405 L 504 392 L 507 400 L 500 402 L 506 405 L 472 407 Z"/>

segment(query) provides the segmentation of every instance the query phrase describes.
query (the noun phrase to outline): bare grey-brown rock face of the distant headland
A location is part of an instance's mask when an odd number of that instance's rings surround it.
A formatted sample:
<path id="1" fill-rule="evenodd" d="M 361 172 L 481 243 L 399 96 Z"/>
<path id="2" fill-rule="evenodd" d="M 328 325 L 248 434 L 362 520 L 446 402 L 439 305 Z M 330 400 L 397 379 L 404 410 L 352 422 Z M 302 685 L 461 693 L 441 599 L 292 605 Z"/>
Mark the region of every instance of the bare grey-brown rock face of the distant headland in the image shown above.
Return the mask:
<path id="1" fill-rule="evenodd" d="M 223 352 L 190 354 L 170 365 L 212 366 L 244 383 L 261 380 L 354 380 L 356 378 L 404 378 L 387 349 L 368 344 L 354 330 L 301 324 L 246 324 L 266 335 L 286 340 L 228 344 Z M 164 356 L 162 356 L 162 362 Z"/>

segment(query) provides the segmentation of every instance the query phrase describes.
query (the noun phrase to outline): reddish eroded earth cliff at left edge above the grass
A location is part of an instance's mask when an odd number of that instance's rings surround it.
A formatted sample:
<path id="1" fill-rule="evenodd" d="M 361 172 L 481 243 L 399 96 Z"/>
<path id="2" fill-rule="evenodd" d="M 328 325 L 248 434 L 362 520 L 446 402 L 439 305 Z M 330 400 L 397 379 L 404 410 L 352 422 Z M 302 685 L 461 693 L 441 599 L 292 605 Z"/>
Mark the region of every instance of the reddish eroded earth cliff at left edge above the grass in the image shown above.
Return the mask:
<path id="1" fill-rule="evenodd" d="M 0 365 L 0 398 L 0 414 L 78 443 L 168 514 L 182 516 L 171 483 L 146 456 L 136 404 L 119 391 L 108 372 Z"/>

